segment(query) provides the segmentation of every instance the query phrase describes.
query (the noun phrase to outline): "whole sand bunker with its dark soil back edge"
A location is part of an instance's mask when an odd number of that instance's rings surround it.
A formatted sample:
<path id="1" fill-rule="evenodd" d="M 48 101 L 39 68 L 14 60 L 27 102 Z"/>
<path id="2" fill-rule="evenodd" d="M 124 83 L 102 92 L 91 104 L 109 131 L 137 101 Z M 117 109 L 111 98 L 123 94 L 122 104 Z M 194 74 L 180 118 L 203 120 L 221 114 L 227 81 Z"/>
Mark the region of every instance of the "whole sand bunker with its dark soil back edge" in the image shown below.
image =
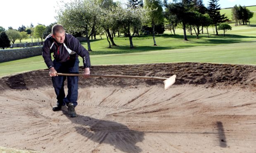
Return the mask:
<path id="1" fill-rule="evenodd" d="M 47 70 L 0 79 L 0 146 L 39 152 L 256 152 L 256 67 L 173 63 L 92 67 L 77 118 L 53 112 Z"/>

